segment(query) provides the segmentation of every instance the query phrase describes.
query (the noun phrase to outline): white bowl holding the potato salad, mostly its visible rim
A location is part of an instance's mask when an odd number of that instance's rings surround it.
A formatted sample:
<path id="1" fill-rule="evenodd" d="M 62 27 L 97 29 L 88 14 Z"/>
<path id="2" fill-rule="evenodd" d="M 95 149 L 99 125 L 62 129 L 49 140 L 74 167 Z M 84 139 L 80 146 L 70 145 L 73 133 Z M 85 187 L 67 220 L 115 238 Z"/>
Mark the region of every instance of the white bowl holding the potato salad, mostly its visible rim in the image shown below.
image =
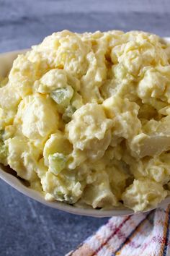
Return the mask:
<path id="1" fill-rule="evenodd" d="M 170 38 L 164 38 L 166 42 L 170 43 Z M 12 63 L 14 59 L 16 59 L 18 54 L 22 54 L 27 50 L 20 50 L 20 51 L 12 51 L 5 54 L 0 54 L 0 76 L 4 77 L 9 72 L 9 69 L 12 67 Z M 93 216 L 93 217 L 110 217 L 110 216 L 125 216 L 133 214 L 133 210 L 128 208 L 115 208 L 113 210 L 95 210 L 92 208 L 76 208 L 72 205 L 68 205 L 64 202 L 48 202 L 44 199 L 43 195 L 40 192 L 37 192 L 29 187 L 26 187 L 23 182 L 18 179 L 13 174 L 9 174 L 6 171 L 6 167 L 0 164 L 0 178 L 4 180 L 7 184 L 17 189 L 22 194 L 31 197 L 38 202 L 42 202 L 44 205 L 48 205 L 51 208 L 55 208 L 58 210 L 64 210 L 68 213 L 74 213 L 84 216 Z M 162 201 L 158 207 L 164 206 L 170 203 L 170 197 L 167 197 L 164 201 Z"/>

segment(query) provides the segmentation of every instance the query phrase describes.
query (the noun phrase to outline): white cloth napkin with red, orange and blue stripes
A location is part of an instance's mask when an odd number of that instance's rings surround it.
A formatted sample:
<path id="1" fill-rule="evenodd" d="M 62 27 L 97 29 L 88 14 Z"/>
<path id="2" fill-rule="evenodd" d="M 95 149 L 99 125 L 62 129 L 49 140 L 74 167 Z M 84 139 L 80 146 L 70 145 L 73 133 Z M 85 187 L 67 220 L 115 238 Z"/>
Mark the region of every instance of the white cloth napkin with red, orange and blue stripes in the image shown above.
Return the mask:
<path id="1" fill-rule="evenodd" d="M 148 213 L 112 217 L 68 255 L 169 256 L 169 223 L 170 205 Z"/>

